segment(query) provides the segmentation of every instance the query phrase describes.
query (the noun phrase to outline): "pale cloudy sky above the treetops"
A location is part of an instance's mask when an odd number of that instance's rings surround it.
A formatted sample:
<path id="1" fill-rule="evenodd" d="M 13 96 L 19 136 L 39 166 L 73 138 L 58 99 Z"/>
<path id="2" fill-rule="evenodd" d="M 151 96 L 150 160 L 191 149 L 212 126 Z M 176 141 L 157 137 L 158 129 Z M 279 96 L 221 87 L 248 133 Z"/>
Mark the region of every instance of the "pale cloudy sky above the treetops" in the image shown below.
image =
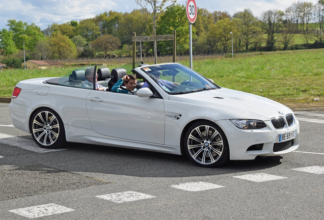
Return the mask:
<path id="1" fill-rule="evenodd" d="M 246 8 L 252 10 L 254 16 L 271 9 L 284 11 L 295 0 L 196 0 L 198 8 L 205 8 L 209 12 L 227 11 L 230 15 Z M 318 0 L 300 0 L 312 2 Z M 185 5 L 186 0 L 177 0 L 177 4 Z M 48 24 L 66 23 L 71 20 L 93 18 L 97 14 L 110 10 L 116 12 L 131 12 L 141 7 L 135 0 L 0 0 L 0 30 L 7 29 L 9 19 L 21 20 L 28 24 L 35 23 L 44 30 Z"/>

